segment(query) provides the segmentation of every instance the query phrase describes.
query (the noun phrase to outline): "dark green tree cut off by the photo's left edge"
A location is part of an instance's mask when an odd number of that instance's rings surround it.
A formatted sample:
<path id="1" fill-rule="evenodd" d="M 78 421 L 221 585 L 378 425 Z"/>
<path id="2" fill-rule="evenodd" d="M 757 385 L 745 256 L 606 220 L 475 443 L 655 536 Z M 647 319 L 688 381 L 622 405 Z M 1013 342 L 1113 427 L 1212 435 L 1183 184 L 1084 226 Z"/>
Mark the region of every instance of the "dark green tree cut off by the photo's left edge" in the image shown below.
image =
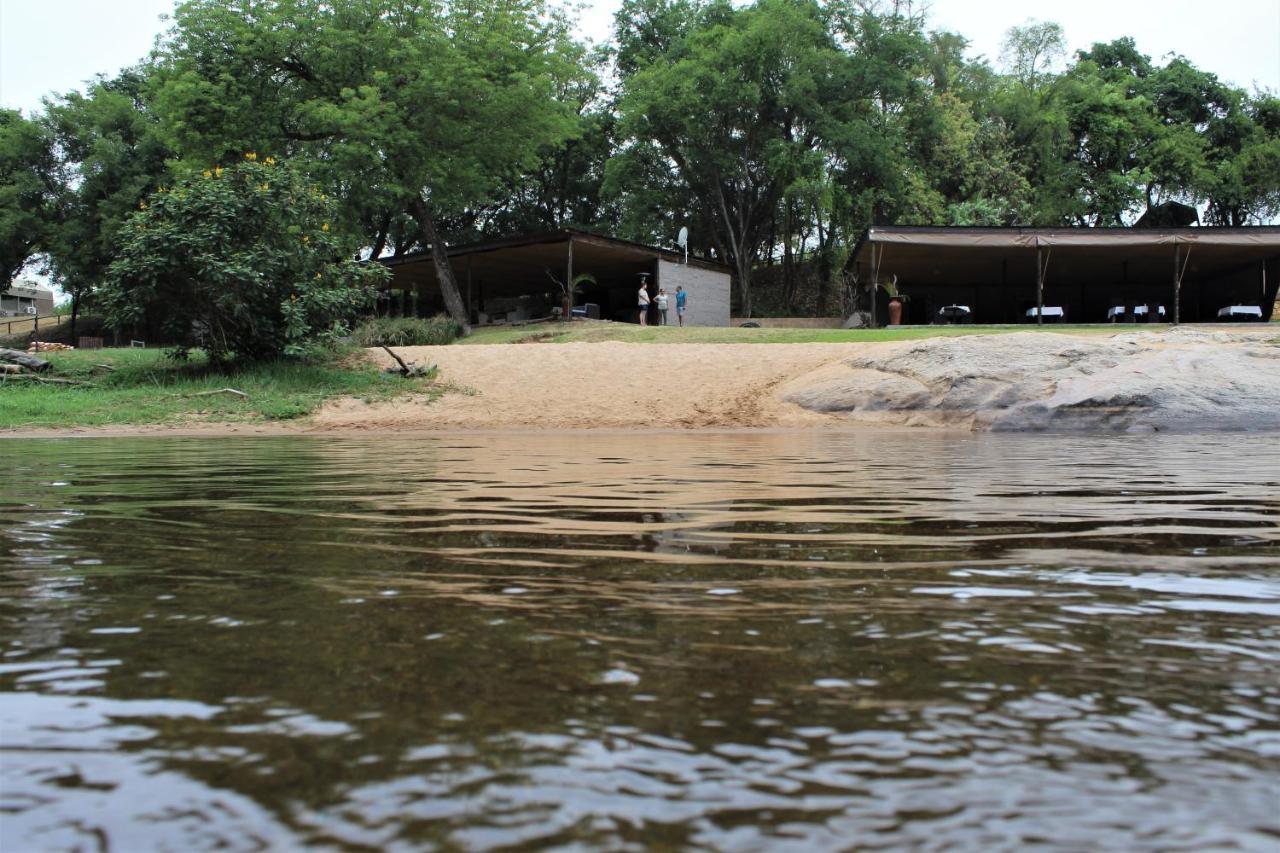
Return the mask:
<path id="1" fill-rule="evenodd" d="M 47 248 L 60 187 L 47 128 L 0 110 L 0 287 Z"/>

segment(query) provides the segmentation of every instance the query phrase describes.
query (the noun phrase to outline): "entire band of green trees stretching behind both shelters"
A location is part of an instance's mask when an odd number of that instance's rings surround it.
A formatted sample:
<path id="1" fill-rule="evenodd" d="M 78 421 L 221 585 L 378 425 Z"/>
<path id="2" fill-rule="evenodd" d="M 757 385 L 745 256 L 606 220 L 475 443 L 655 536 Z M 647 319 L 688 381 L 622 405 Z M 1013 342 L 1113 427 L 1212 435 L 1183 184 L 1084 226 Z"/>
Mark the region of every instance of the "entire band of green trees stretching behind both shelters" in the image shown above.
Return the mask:
<path id="1" fill-rule="evenodd" d="M 589 45 L 549 0 L 186 0 L 136 68 L 0 113 L 0 265 L 73 305 L 119 288 L 140 202 L 246 152 L 323 191 L 352 259 L 430 252 L 463 325 L 448 245 L 516 232 L 687 225 L 750 314 L 829 311 L 872 223 L 1280 215 L 1274 92 L 1130 38 L 1064 49 L 1019 23 L 993 67 L 910 3 L 625 0 Z"/>

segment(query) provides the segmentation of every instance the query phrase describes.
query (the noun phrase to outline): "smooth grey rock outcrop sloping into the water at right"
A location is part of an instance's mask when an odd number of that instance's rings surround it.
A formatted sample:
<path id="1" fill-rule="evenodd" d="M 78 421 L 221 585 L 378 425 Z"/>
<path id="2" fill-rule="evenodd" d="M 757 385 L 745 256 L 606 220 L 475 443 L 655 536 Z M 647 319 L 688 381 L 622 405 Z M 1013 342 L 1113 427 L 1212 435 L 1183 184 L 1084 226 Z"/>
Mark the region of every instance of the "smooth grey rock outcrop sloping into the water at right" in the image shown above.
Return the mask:
<path id="1" fill-rule="evenodd" d="M 928 338 L 828 365 L 782 396 L 877 424 L 1280 430 L 1280 328 Z"/>

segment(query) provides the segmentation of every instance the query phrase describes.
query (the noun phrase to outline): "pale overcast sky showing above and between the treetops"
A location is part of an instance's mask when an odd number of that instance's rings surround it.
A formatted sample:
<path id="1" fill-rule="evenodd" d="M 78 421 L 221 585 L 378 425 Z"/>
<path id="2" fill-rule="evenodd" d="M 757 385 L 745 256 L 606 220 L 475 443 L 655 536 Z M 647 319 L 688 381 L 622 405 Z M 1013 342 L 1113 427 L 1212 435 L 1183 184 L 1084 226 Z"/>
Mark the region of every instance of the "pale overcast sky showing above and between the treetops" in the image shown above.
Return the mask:
<path id="1" fill-rule="evenodd" d="M 49 92 L 114 74 L 151 49 L 173 0 L 0 0 L 0 105 L 40 108 Z M 582 32 L 608 36 L 620 0 L 595 0 Z M 1004 32 L 1056 20 L 1071 50 L 1133 36 L 1160 60 L 1179 53 L 1238 86 L 1280 91 L 1280 0 L 933 0 L 931 27 L 970 41 L 992 61 Z"/>

